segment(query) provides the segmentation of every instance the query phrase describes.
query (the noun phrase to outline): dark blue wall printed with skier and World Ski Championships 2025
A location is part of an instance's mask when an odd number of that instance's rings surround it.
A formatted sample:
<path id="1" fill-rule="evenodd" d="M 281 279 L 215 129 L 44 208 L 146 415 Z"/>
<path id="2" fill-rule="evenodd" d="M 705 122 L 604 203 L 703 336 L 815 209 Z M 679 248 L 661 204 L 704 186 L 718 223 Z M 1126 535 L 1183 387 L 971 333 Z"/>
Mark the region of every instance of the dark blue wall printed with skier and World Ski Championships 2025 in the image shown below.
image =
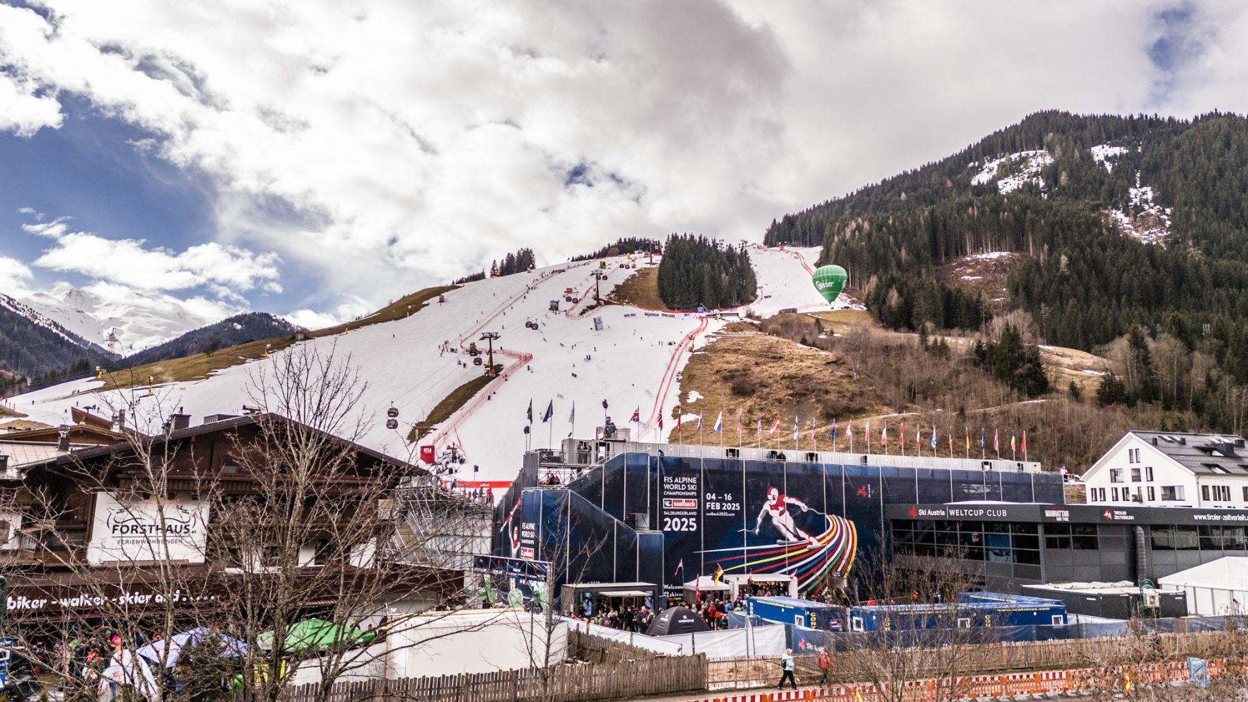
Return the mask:
<path id="1" fill-rule="evenodd" d="M 1045 474 L 633 453 L 569 489 L 525 490 L 498 555 L 565 564 L 567 581 L 655 582 L 669 594 L 715 574 L 792 575 L 811 591 L 852 581 L 856 562 L 886 552 L 886 504 L 1060 493 L 1061 478 Z"/>

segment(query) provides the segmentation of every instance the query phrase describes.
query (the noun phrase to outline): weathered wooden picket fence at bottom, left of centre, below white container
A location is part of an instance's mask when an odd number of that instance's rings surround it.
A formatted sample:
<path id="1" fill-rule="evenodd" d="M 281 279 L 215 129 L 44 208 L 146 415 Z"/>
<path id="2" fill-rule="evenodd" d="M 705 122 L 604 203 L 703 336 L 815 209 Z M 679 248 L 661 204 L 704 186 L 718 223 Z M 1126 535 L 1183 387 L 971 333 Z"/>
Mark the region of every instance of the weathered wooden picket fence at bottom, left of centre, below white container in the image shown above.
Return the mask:
<path id="1" fill-rule="evenodd" d="M 619 700 L 706 688 L 706 657 L 681 656 L 619 663 L 582 663 L 492 673 L 342 682 L 321 702 L 512 702 Z M 316 702 L 319 686 L 282 693 L 288 702 Z"/>

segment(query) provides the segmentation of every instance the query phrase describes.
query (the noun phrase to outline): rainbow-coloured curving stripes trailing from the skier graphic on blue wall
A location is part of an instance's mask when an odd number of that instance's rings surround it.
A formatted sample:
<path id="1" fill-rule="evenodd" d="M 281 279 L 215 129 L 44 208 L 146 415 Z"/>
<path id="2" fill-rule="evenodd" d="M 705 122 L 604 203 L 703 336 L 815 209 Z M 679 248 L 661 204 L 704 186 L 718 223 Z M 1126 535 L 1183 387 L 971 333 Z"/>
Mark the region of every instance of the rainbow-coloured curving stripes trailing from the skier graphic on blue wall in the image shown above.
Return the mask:
<path id="1" fill-rule="evenodd" d="M 819 547 L 801 541 L 796 544 L 763 544 L 701 551 L 709 557 L 708 567 L 715 565 L 725 574 L 794 575 L 802 592 L 812 589 L 831 574 L 845 577 L 854 567 L 857 555 L 857 527 L 854 522 L 835 515 L 824 515 L 826 529 L 816 536 Z"/>

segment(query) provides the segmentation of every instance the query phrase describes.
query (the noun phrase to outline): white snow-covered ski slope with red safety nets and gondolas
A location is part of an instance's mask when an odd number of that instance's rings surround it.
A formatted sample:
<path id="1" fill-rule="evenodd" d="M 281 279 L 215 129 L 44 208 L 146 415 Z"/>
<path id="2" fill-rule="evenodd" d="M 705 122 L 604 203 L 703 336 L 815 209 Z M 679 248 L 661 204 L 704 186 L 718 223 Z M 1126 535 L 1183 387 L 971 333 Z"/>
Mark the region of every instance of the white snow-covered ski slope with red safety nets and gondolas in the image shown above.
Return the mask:
<path id="1" fill-rule="evenodd" d="M 829 309 L 810 284 L 817 247 L 755 247 L 750 253 L 761 288 L 759 299 L 750 305 L 755 313 L 769 317 L 786 308 Z M 605 261 L 603 296 L 633 273 L 619 268 L 624 257 Z M 436 444 L 439 453 L 449 443 L 462 446 L 468 458 L 462 479 L 510 480 L 525 449 L 523 428 L 530 399 L 533 448 L 558 445 L 573 431 L 588 436 L 604 414 L 617 425 L 633 429 L 634 436 L 663 440 L 658 418 L 670 416 L 678 403 L 676 375 L 689 354 L 724 324 L 696 313 L 659 313 L 619 304 L 582 317 L 579 313 L 592 304 L 593 273 L 598 269 L 598 261 L 593 261 L 489 278 L 452 291 L 444 303 L 431 303 L 409 318 L 302 343 L 316 344 L 322 352 L 333 349 L 338 357 L 349 354 L 368 382 L 363 403 L 372 419 L 363 435 L 351 439 L 407 456 L 414 454 L 404 440 L 412 423 L 482 372 L 459 349 L 474 340 L 484 349 L 478 340 L 482 332 L 498 332 L 495 363 L 504 365 L 503 375 L 421 444 Z M 582 302 L 564 302 L 565 288 L 575 289 Z M 559 301 L 559 312 L 548 309 L 550 301 Z M 845 305 L 837 302 L 837 307 Z M 594 329 L 594 317 L 602 317 L 602 330 Z M 538 329 L 525 328 L 525 320 L 537 322 Z M 443 342 L 449 342 L 451 352 L 441 350 Z M 247 403 L 250 375 L 265 363 L 272 360 L 252 360 L 205 380 L 158 385 L 154 398 L 140 398 L 139 411 L 144 403 L 160 400 L 166 406 L 185 408 L 195 415 L 193 423 L 208 414 L 237 414 Z M 70 406 L 120 406 L 131 395 L 94 392 L 99 385 L 94 379 L 62 383 L 12 398 L 12 404 L 31 419 L 61 424 L 69 421 Z M 603 400 L 608 403 L 605 411 Z M 384 411 L 392 404 L 399 410 L 398 430 L 384 428 Z M 553 405 L 553 416 L 543 423 L 548 404 Z M 570 416 L 574 404 L 575 424 Z M 629 421 L 634 410 L 640 415 L 635 424 Z M 671 428 L 670 419 L 664 424 Z M 479 466 L 475 475 L 473 465 Z"/>

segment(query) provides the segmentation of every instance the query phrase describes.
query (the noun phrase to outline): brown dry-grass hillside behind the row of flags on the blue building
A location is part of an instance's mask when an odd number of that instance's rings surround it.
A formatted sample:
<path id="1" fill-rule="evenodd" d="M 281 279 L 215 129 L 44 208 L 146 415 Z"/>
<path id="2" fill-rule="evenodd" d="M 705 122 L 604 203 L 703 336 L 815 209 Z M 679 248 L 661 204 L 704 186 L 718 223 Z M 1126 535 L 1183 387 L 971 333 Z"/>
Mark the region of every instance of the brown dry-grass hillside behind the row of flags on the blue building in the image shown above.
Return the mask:
<path id="1" fill-rule="evenodd" d="M 824 338 L 820 338 L 820 335 Z M 835 334 L 841 334 L 836 337 Z M 800 343 L 805 338 L 806 343 Z M 854 423 L 855 450 L 864 449 L 866 423 L 872 428 L 872 451 L 879 451 L 879 433 L 890 428 L 890 451 L 897 451 L 897 426 L 906 426 L 906 453 L 914 454 L 914 430 L 922 428 L 922 455 L 931 455 L 931 428 L 938 430 L 937 454 L 950 455 L 948 435 L 953 434 L 953 455 L 965 456 L 966 433 L 971 433 L 970 455 L 980 455 L 980 430 L 987 435 L 990 458 L 992 431 L 1001 431 L 1003 455 L 1008 458 L 1010 430 L 1027 431 L 1028 458 L 1046 469 L 1067 466 L 1078 473 L 1107 450 L 1118 438 L 1137 426 L 1182 429 L 1192 418 L 1183 413 L 1137 411 L 1117 405 L 1102 406 L 1083 392 L 1070 397 L 1061 383 L 1075 374 L 1096 382 L 1083 373 L 1104 360 L 1073 349 L 1042 349 L 1045 367 L 1058 389 L 1036 399 L 1022 399 L 985 370 L 968 364 L 972 339 L 950 337 L 948 354 L 924 350 L 917 334 L 881 329 L 866 313 L 839 310 L 811 315 L 784 314 L 754 324 L 731 324 L 716 339 L 695 353 L 680 378 L 681 398 L 690 392 L 700 395 L 684 403 L 685 414 L 704 413 L 703 440 L 719 443 L 710 426 L 724 411 L 724 443 L 738 441 L 736 416 L 745 416 L 743 443 L 758 443 L 755 423 L 763 415 L 761 445 L 791 449 L 792 418 L 800 418 L 800 440 L 810 446 L 810 421 L 819 426 L 817 448 L 832 449 L 829 428 L 836 419 L 836 450 L 849 450 L 845 430 Z M 935 340 L 929 339 L 935 349 Z M 695 395 L 695 397 L 696 397 Z M 776 415 L 780 430 L 769 438 L 766 429 Z M 673 429 L 671 440 L 678 433 Z M 681 438 L 696 441 L 694 426 L 686 424 Z M 1021 455 L 1018 458 L 1022 458 Z"/>

